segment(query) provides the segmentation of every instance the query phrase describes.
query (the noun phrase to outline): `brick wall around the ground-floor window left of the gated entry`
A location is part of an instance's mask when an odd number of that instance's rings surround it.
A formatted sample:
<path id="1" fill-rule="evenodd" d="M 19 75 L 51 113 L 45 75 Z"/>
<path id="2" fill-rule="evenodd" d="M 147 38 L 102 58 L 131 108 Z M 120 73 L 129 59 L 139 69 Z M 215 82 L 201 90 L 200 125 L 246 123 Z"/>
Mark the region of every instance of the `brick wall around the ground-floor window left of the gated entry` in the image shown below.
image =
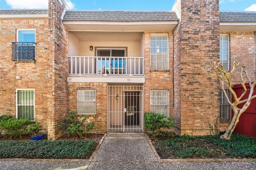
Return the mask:
<path id="1" fill-rule="evenodd" d="M 72 82 L 68 83 L 68 110 L 76 111 L 76 88 L 96 89 L 96 115 L 90 115 L 87 122 L 94 122 L 90 133 L 106 133 L 107 131 L 107 83 Z"/>

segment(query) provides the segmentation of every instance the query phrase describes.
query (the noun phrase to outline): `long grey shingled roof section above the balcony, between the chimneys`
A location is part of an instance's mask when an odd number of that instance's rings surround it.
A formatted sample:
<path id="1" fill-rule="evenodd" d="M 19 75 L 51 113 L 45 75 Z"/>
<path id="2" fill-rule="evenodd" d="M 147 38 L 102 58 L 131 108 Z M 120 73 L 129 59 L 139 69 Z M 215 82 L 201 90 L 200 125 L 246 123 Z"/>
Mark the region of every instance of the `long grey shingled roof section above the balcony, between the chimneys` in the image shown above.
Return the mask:
<path id="1" fill-rule="evenodd" d="M 66 11 L 63 20 L 71 21 L 177 21 L 172 11 Z"/>

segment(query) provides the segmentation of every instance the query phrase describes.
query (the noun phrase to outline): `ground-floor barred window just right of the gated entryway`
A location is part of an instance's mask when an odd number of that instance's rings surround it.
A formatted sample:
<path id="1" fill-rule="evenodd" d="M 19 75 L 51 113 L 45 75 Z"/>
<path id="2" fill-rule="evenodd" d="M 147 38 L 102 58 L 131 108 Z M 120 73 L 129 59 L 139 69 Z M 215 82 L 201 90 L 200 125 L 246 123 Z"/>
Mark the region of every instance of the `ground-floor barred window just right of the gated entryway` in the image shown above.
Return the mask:
<path id="1" fill-rule="evenodd" d="M 164 114 L 169 117 L 169 90 L 150 90 L 150 112 Z"/>

